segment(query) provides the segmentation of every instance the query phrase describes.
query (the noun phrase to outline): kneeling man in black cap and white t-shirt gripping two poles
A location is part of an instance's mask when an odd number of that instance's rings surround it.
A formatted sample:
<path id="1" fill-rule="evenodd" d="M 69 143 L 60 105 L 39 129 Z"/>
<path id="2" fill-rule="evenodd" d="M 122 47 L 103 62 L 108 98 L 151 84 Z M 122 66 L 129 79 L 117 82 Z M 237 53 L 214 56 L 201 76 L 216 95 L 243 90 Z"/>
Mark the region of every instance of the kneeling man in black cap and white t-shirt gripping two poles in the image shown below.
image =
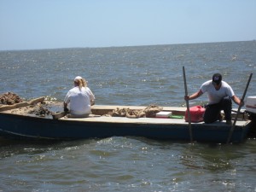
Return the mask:
<path id="1" fill-rule="evenodd" d="M 201 89 L 192 94 L 191 96 L 184 96 L 187 101 L 193 100 L 207 92 L 208 104 L 206 112 L 204 114 L 204 121 L 207 124 L 213 123 L 218 119 L 221 119 L 220 111 L 224 110 L 226 124 L 232 125 L 231 121 L 231 109 L 232 101 L 236 102 L 237 105 L 243 106 L 243 102 L 235 95 L 234 91 L 222 80 L 222 76 L 219 73 L 215 73 L 212 76 L 212 80 L 201 85 Z"/>

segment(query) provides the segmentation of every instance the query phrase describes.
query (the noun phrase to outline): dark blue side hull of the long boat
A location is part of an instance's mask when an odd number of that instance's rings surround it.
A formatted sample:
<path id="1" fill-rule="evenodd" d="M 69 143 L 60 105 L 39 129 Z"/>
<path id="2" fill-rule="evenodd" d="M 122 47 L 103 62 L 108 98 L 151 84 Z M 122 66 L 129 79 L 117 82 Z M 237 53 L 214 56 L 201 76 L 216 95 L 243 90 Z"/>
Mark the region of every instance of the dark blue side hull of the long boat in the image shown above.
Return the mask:
<path id="1" fill-rule="evenodd" d="M 193 140 L 207 143 L 226 143 L 230 125 L 192 124 Z M 230 142 L 241 143 L 249 123 L 236 126 Z M 140 124 L 136 122 L 84 122 L 0 114 L 0 137 L 12 139 L 74 140 L 104 137 L 148 137 L 189 141 L 188 124 Z"/>

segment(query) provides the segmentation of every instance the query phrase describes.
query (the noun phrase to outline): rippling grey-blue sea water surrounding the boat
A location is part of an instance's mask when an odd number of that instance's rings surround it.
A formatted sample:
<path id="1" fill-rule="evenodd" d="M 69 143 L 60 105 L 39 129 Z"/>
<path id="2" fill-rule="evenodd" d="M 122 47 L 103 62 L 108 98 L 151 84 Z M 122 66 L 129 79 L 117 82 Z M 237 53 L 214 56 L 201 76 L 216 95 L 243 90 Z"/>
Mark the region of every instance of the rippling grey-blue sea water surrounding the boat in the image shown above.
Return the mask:
<path id="1" fill-rule="evenodd" d="M 96 104 L 181 107 L 183 66 L 189 94 L 222 73 L 241 97 L 253 73 L 247 96 L 256 95 L 256 41 L 0 51 L 0 94 L 63 101 L 80 75 Z M 201 96 L 190 104 L 205 102 Z M 221 145 L 143 137 L 59 143 L 0 138 L 0 170 L 0 191 L 256 191 L 256 140 Z"/>

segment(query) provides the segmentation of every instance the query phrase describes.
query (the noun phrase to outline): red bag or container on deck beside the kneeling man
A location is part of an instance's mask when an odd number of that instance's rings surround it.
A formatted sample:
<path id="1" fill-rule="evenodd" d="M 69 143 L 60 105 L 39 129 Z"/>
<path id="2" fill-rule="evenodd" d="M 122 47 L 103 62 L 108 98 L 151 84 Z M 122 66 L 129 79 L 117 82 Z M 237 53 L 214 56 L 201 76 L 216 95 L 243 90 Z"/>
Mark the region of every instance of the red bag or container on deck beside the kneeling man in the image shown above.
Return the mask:
<path id="1" fill-rule="evenodd" d="M 189 108 L 191 122 L 198 123 L 203 121 L 205 111 L 206 109 L 202 108 L 200 105 Z M 186 110 L 185 113 L 185 121 L 189 121 L 188 110 Z"/>

